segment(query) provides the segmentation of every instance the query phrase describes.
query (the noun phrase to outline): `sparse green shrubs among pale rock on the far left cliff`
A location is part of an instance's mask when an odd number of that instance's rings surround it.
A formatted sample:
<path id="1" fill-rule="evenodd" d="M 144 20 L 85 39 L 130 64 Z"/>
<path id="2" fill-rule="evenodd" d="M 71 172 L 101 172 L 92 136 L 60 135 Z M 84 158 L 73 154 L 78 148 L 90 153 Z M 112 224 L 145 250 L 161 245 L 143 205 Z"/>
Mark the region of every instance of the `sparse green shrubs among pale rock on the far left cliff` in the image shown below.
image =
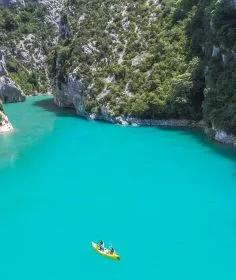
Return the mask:
<path id="1" fill-rule="evenodd" d="M 26 94 L 45 92 L 49 86 L 44 60 L 56 33 L 46 15 L 46 7 L 38 4 L 0 8 L 0 49 L 8 50 L 9 75 Z"/>

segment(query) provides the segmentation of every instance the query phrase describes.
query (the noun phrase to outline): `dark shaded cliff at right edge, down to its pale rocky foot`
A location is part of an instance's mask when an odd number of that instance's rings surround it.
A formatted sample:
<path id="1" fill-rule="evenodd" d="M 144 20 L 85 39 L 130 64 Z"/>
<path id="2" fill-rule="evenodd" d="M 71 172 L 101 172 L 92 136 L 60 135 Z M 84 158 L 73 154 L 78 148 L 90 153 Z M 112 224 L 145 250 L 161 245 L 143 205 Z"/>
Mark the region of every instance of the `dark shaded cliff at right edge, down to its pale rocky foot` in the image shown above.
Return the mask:
<path id="1" fill-rule="evenodd" d="M 205 64 L 203 118 L 216 141 L 236 145 L 236 5 L 232 0 L 206 3 L 198 6 L 193 34 L 202 34 L 195 45 L 203 47 L 199 55 Z"/>

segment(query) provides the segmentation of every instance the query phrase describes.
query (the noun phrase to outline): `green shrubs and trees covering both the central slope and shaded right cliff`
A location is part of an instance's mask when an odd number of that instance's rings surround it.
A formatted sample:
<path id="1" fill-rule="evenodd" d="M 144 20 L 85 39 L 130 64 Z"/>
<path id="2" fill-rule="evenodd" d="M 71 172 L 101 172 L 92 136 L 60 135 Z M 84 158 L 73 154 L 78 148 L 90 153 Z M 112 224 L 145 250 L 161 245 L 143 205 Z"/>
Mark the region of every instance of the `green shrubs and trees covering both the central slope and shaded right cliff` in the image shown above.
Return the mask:
<path id="1" fill-rule="evenodd" d="M 236 133 L 236 10 L 230 3 L 70 0 L 73 16 L 65 19 L 73 38 L 61 38 L 51 52 L 52 75 L 64 83 L 77 69 L 89 88 L 89 112 L 105 104 L 113 115 L 205 118 Z"/>

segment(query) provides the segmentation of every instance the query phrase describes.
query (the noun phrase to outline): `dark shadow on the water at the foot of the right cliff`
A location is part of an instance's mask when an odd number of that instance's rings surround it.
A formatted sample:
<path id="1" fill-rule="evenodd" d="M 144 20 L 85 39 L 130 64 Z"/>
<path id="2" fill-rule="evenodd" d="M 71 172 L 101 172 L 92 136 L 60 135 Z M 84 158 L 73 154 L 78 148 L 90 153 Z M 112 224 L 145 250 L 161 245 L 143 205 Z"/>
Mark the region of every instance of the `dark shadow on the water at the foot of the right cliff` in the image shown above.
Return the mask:
<path id="1" fill-rule="evenodd" d="M 214 140 L 211 140 L 204 132 L 200 129 L 194 128 L 168 128 L 168 127 L 158 127 L 161 130 L 168 130 L 168 131 L 178 131 L 182 135 L 189 136 L 194 140 L 197 140 L 202 146 L 209 148 L 215 153 L 220 154 L 221 156 L 225 157 L 226 159 L 230 159 L 236 164 L 236 148 L 232 147 L 231 145 L 225 145 L 218 143 Z M 235 165 L 235 174 L 236 176 L 236 165 Z"/>

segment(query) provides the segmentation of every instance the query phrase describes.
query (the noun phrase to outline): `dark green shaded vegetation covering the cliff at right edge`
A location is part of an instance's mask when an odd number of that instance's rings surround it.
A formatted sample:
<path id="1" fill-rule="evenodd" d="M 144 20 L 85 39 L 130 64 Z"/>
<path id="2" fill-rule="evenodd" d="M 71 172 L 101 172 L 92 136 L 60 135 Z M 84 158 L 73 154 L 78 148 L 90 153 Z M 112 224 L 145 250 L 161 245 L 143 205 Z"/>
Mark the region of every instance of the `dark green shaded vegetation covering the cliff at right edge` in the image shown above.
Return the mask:
<path id="1" fill-rule="evenodd" d="M 208 24 L 204 28 L 204 41 L 206 46 L 218 47 L 219 52 L 212 57 L 208 47 L 204 57 L 207 65 L 204 118 L 210 126 L 236 134 L 236 9 L 226 0 L 217 1 L 214 9 L 209 7 L 212 5 L 205 8 Z"/>

